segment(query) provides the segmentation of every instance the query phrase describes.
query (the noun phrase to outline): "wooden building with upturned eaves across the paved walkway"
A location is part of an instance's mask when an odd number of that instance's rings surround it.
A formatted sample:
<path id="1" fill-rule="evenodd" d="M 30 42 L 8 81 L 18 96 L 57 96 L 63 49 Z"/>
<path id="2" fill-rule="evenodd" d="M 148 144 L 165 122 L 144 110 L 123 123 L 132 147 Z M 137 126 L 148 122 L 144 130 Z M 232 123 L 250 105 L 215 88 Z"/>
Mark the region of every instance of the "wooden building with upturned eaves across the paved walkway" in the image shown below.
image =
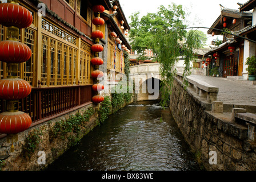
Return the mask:
<path id="1" fill-rule="evenodd" d="M 223 35 L 223 43 L 205 54 L 205 56 L 211 56 L 211 68 L 218 67 L 220 77 L 242 77 L 244 40 L 235 39 L 234 35 L 251 26 L 252 15 L 249 11 L 222 9 L 221 15 L 207 32 L 211 35 Z M 222 33 L 222 30 L 230 31 L 234 35 Z M 215 53 L 218 56 L 214 56 Z"/>

